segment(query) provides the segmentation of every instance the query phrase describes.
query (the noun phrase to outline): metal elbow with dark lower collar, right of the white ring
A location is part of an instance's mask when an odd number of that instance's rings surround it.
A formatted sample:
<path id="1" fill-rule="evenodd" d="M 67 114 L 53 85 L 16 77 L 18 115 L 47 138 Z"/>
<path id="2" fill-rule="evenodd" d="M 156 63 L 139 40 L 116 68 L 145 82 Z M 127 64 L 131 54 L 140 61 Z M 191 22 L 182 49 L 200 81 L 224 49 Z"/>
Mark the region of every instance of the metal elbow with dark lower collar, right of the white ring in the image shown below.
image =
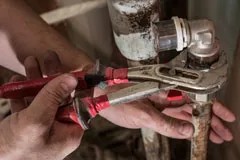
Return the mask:
<path id="1" fill-rule="evenodd" d="M 188 21 L 188 25 L 191 33 L 188 45 L 189 67 L 198 70 L 210 69 L 220 56 L 215 25 L 209 20 L 192 20 Z"/>

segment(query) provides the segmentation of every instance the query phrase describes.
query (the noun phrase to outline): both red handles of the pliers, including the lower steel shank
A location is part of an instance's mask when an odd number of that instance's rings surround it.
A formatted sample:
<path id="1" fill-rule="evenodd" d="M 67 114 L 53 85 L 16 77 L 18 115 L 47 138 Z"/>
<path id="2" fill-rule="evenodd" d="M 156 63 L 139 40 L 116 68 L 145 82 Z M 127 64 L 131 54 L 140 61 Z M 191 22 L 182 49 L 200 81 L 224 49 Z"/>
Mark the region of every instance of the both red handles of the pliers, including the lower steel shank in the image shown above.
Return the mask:
<path id="1" fill-rule="evenodd" d="M 147 66 L 146 66 L 147 67 Z M 85 74 L 83 72 L 73 72 L 72 74 L 78 79 L 78 89 L 85 90 L 92 88 L 102 81 L 106 81 L 109 85 L 128 83 L 129 80 L 152 80 L 154 78 L 151 75 L 147 77 L 135 75 L 136 71 L 147 71 L 148 68 L 105 68 L 99 74 Z M 154 66 L 152 66 L 154 67 Z M 150 71 L 150 70 L 149 70 Z M 150 72 L 149 72 L 150 73 Z M 47 77 L 36 80 L 29 80 L 24 82 L 7 83 L 0 86 L 0 98 L 24 98 L 29 96 L 35 96 L 49 81 L 56 76 Z M 82 126 L 83 129 L 88 128 L 88 122 L 91 118 L 95 117 L 101 110 L 113 105 L 131 102 L 137 99 L 147 97 L 153 93 L 161 90 L 174 89 L 175 85 L 167 85 L 166 87 L 160 86 L 159 82 L 144 82 L 126 89 L 119 90 L 115 93 L 103 95 L 97 98 L 87 97 L 78 98 L 75 97 L 71 104 L 61 107 L 57 114 L 57 119 L 61 121 L 76 122 Z"/>

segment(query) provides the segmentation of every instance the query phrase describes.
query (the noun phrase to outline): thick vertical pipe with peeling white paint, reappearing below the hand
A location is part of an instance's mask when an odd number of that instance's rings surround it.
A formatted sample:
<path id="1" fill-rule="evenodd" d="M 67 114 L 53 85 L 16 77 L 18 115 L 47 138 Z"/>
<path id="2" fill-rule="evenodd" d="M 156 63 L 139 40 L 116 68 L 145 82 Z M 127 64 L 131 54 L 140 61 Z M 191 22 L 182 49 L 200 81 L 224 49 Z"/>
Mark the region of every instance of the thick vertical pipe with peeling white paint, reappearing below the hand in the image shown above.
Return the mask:
<path id="1" fill-rule="evenodd" d="M 108 8 L 115 42 L 129 66 L 156 63 L 158 52 L 152 22 L 160 19 L 160 0 L 108 0 Z M 141 131 L 147 160 L 169 160 L 167 139 L 159 139 L 149 129 Z"/>

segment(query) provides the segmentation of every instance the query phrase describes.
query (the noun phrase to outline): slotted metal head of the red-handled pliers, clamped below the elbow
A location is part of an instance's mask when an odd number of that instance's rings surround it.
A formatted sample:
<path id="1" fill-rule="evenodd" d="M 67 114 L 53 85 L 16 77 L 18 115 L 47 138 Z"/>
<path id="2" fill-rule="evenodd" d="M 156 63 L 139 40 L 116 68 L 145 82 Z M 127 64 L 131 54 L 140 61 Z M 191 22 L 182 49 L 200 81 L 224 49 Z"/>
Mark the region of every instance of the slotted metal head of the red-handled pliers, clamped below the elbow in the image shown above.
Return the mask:
<path id="1" fill-rule="evenodd" d="M 130 68 L 129 80 L 156 81 L 176 85 L 176 90 L 194 97 L 196 94 L 216 93 L 227 81 L 228 63 L 225 52 L 208 70 L 188 68 L 187 50 L 183 51 L 169 64 L 148 65 Z"/>

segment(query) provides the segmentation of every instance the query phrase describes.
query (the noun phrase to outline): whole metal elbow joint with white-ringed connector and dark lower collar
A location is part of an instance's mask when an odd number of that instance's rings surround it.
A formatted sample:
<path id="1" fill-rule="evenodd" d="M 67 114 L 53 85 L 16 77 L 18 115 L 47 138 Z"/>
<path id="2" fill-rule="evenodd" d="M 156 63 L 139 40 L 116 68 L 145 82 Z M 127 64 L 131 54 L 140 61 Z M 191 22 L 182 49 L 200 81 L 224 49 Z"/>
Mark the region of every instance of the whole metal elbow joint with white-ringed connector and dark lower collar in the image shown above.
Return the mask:
<path id="1" fill-rule="evenodd" d="M 220 55 L 220 44 L 215 38 L 215 26 L 209 20 L 191 20 L 173 17 L 154 24 L 155 49 L 158 52 L 188 48 L 189 67 L 206 70 Z"/>

